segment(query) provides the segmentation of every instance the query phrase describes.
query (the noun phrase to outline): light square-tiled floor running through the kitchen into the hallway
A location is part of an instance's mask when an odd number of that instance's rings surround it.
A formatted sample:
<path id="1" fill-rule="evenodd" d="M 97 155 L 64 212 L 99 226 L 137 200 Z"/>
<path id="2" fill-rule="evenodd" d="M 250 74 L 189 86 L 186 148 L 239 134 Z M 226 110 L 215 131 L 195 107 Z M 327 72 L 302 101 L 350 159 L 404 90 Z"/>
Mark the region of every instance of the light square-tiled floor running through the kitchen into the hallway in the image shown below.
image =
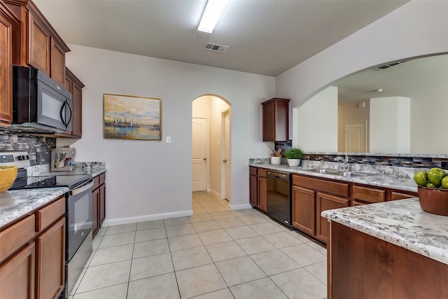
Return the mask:
<path id="1" fill-rule="evenodd" d="M 321 244 L 211 193 L 193 212 L 102 227 L 69 298 L 326 298 Z"/>

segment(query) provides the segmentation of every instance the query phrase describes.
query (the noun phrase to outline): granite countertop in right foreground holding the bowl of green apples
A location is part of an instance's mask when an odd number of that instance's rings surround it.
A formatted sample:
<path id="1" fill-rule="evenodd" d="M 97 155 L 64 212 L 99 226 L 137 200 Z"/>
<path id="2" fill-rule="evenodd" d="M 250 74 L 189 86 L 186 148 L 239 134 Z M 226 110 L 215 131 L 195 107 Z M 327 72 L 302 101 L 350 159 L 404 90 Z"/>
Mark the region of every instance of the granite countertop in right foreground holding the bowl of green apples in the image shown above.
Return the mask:
<path id="1" fill-rule="evenodd" d="M 423 211 L 418 198 L 331 209 L 321 215 L 448 265 L 448 216 Z"/>

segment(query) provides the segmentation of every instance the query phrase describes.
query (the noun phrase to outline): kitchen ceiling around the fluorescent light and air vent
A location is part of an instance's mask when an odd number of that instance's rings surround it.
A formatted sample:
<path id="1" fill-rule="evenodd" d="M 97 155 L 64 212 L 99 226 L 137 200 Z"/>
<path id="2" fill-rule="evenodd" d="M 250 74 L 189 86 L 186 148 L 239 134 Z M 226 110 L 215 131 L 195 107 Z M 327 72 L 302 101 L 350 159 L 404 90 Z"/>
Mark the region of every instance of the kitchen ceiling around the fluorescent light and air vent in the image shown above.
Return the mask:
<path id="1" fill-rule="evenodd" d="M 214 32 L 206 0 L 34 0 L 66 43 L 277 76 L 407 1 L 230 0 Z M 206 42 L 229 46 L 203 50 Z"/>

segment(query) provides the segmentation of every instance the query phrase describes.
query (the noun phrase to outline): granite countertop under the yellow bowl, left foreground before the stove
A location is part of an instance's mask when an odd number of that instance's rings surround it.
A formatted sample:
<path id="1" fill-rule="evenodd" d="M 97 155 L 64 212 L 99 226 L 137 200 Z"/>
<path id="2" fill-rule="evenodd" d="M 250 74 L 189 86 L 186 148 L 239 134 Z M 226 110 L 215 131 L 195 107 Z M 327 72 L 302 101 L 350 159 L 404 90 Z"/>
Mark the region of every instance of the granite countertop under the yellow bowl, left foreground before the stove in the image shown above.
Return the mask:
<path id="1" fill-rule="evenodd" d="M 64 195 L 69 188 L 37 188 L 0 193 L 0 227 Z"/>

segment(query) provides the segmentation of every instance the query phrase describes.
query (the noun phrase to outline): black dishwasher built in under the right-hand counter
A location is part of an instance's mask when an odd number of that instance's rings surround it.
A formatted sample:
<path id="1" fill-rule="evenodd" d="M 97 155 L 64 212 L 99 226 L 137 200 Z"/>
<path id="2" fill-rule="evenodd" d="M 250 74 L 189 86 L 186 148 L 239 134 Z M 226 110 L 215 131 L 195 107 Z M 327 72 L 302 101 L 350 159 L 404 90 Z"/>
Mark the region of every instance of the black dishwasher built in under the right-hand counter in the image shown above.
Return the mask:
<path id="1" fill-rule="evenodd" d="M 291 184 L 286 172 L 267 171 L 267 214 L 288 227 L 291 226 Z"/>

